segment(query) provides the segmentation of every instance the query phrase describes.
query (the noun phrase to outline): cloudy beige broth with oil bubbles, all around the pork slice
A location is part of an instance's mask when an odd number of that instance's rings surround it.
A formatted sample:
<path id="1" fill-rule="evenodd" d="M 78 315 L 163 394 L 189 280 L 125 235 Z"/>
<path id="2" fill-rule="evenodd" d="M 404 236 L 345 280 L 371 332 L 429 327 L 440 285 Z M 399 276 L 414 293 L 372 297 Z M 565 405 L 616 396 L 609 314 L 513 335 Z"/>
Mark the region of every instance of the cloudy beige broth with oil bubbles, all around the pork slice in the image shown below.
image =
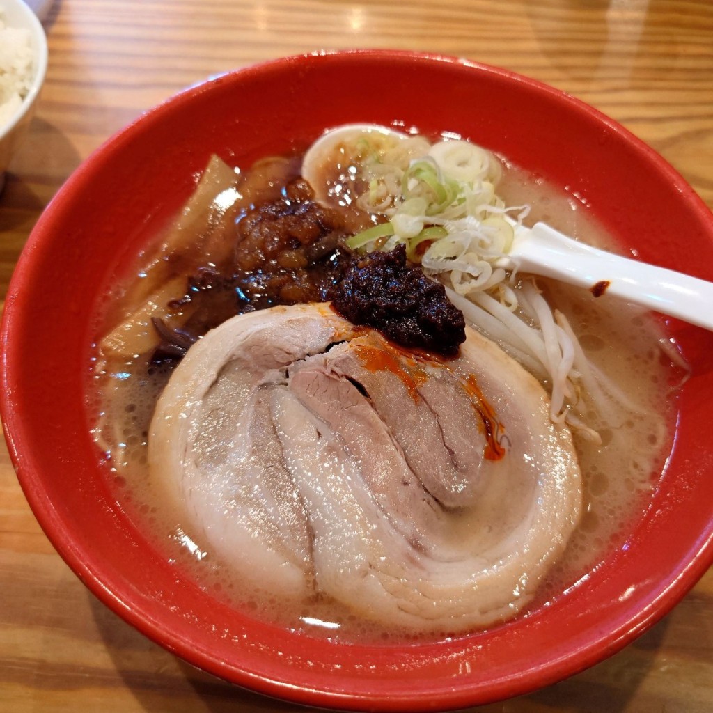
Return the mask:
<path id="1" fill-rule="evenodd" d="M 289 177 L 298 163 L 289 161 L 287 165 L 285 175 Z M 523 170 L 503 165 L 498 194 L 508 205 L 528 203 L 532 206 L 530 219 L 546 220 L 594 245 L 615 247 L 579 200 Z M 260 190 L 256 190 L 259 194 Z M 274 195 L 275 186 L 266 186 L 265 190 Z M 159 235 L 156 240 L 160 242 L 161 238 Z M 106 332 L 125 309 L 124 295 L 132 289 L 136 275 L 142 274 L 145 260 L 145 255 L 138 257 L 125 282 L 108 289 L 106 301 L 98 309 L 98 334 Z M 589 359 L 625 390 L 629 405 L 617 407 L 603 421 L 590 414 L 590 426 L 602 436 L 601 446 L 575 434 L 585 487 L 583 518 L 565 555 L 525 609 L 525 615 L 561 595 L 610 548 L 625 542 L 632 523 L 645 511 L 670 452 L 674 381 L 680 376 L 662 352 L 660 330 L 645 312 L 622 305 L 606 294 L 595 299 L 587 291 L 545 279 L 538 279 L 538 284 L 550 305 L 568 317 Z M 150 365 L 148 359 L 132 357 L 120 368 L 116 364 L 107 368 L 101 354 L 96 356 L 91 399 L 101 416 L 94 433 L 102 448 L 111 454 L 106 467 L 126 511 L 141 520 L 178 568 L 212 595 L 292 630 L 343 640 L 419 637 L 414 632 L 361 621 L 341 605 L 320 597 L 290 603 L 232 575 L 230 568 L 217 561 L 195 538 L 180 515 L 165 508 L 160 488 L 148 477 L 148 424 L 155 401 L 170 376 L 170 364 Z M 434 633 L 426 636 L 432 638 Z"/>

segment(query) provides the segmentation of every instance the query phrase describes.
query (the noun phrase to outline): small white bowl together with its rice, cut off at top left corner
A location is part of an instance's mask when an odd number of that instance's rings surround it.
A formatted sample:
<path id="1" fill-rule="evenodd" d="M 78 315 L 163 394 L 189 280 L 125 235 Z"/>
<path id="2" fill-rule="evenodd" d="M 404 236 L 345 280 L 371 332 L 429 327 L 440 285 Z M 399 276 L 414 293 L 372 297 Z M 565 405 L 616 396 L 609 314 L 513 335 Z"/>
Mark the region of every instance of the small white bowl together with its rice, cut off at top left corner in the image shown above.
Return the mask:
<path id="1" fill-rule="evenodd" d="M 47 70 L 47 39 L 22 0 L 0 0 L 0 188 L 34 114 Z"/>

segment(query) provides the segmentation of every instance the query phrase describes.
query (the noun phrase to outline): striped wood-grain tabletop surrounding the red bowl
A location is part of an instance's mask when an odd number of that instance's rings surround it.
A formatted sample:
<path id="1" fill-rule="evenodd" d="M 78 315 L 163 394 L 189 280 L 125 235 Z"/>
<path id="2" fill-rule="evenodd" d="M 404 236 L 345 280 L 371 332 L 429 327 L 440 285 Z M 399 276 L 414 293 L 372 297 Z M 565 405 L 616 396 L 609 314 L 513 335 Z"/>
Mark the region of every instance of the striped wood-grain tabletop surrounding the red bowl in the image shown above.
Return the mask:
<path id="1" fill-rule="evenodd" d="M 0 2 L 1 4 L 1 2 Z M 37 5 L 38 3 L 36 3 Z M 50 63 L 0 195 L 0 290 L 40 212 L 96 146 L 207 76 L 317 48 L 411 48 L 525 73 L 619 120 L 713 206 L 710 0 L 56 0 Z M 0 452 L 0 711 L 289 711 L 194 670 L 56 555 Z M 565 682 L 481 711 L 713 709 L 713 571 L 652 630 Z"/>

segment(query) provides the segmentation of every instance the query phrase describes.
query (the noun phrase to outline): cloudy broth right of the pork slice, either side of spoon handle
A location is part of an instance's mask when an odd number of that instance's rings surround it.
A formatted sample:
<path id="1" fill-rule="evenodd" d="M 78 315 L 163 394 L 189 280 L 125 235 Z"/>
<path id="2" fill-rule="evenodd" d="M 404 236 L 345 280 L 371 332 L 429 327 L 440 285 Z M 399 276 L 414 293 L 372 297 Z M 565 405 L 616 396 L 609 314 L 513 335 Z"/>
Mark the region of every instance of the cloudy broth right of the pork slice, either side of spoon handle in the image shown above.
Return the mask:
<path id="1" fill-rule="evenodd" d="M 590 245 L 621 252 L 591 215 L 586 197 L 558 190 L 531 173 L 510 167 L 498 187 L 508 205 L 532 207 L 527 222 L 548 222 Z M 612 548 L 625 543 L 648 506 L 670 454 L 676 387 L 687 374 L 660 322 L 645 309 L 603 294 L 538 278 L 550 306 L 568 318 L 588 359 L 626 395 L 604 417 L 588 423 L 602 438 L 595 446 L 574 432 L 585 501 L 568 550 L 543 588 L 556 596 L 590 570 Z"/>

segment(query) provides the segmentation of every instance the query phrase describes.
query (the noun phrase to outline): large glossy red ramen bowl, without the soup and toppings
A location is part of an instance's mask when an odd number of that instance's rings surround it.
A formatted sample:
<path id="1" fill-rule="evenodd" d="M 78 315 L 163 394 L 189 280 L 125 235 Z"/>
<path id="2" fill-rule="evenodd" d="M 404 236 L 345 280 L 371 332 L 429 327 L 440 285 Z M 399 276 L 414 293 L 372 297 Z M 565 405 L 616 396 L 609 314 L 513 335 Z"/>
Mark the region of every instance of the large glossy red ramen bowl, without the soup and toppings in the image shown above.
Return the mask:
<path id="1" fill-rule="evenodd" d="M 424 97 L 451 98 L 424 101 Z M 108 607 L 188 662 L 294 702 L 456 709 L 563 679 L 665 615 L 713 560 L 713 334 L 662 322 L 691 367 L 674 448 L 625 543 L 546 607 L 448 640 L 344 645 L 260 622 L 172 565 L 120 504 L 91 436 L 96 306 L 217 153 L 235 165 L 367 122 L 467 136 L 586 198 L 625 250 L 713 280 L 713 216 L 659 155 L 570 96 L 467 61 L 392 51 L 297 56 L 227 73 L 111 138 L 36 225 L 7 297 L 2 418 L 24 492 Z M 681 236 L 687 250 L 679 250 Z"/>

